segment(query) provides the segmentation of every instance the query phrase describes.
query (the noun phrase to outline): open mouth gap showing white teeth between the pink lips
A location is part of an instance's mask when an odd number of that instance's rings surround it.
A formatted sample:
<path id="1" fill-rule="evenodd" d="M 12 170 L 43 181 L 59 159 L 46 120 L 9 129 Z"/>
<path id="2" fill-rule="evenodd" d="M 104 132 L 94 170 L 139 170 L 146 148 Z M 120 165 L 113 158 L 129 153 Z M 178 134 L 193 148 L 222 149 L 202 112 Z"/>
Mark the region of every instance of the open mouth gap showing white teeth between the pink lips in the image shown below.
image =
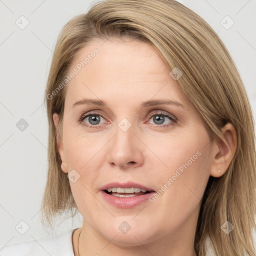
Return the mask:
<path id="1" fill-rule="evenodd" d="M 139 187 L 109 187 L 103 191 L 116 197 L 133 197 L 153 192 Z"/>

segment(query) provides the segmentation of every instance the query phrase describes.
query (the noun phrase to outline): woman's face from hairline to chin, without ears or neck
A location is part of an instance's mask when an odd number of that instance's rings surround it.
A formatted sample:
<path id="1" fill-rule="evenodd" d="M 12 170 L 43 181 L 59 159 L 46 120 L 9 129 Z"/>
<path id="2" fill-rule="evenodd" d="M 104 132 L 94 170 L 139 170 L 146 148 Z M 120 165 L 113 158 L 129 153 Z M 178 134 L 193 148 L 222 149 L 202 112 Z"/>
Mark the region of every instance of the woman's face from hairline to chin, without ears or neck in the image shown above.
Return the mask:
<path id="1" fill-rule="evenodd" d="M 133 39 L 92 41 L 69 70 L 59 152 L 83 220 L 120 245 L 182 240 L 195 230 L 212 143 L 177 77 Z M 120 189 L 132 187 L 148 193 Z"/>

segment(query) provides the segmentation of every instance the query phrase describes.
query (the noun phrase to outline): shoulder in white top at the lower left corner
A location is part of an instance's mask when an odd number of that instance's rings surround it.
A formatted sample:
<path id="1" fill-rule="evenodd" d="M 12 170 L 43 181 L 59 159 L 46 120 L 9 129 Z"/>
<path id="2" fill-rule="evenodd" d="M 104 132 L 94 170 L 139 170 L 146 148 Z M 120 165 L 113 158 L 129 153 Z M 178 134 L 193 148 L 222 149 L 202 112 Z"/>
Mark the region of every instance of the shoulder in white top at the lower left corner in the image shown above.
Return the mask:
<path id="1" fill-rule="evenodd" d="M 0 256 L 73 256 L 72 232 L 27 242 L 12 243 L 0 248 Z"/>

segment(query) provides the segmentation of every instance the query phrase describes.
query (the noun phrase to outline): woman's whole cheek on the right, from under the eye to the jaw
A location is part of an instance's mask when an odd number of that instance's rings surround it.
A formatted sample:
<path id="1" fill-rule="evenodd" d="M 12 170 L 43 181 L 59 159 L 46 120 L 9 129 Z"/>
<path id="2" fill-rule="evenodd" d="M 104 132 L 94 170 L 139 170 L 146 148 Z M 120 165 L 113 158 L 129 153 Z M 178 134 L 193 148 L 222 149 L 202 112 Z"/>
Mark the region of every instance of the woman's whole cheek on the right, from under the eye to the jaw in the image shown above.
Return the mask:
<path id="1" fill-rule="evenodd" d="M 170 227 L 182 223 L 197 210 L 210 175 L 211 144 L 208 133 L 202 129 L 182 137 L 172 137 L 164 143 L 161 160 L 168 166 L 154 174 L 158 184 L 157 195 L 151 198 L 152 207 L 162 209 L 159 218 L 169 216 Z M 152 173 L 153 175 L 153 173 Z M 165 205 L 165 206 L 163 206 Z"/>

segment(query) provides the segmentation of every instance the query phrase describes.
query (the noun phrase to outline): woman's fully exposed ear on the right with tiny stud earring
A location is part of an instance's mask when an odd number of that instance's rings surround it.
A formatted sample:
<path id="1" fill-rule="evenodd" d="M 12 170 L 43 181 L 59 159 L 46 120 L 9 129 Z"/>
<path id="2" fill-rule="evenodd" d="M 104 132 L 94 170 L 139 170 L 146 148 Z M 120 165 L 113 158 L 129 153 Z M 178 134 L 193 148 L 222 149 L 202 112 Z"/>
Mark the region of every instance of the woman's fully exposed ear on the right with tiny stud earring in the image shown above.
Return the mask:
<path id="1" fill-rule="evenodd" d="M 224 140 L 218 139 L 213 142 L 213 159 L 210 175 L 219 177 L 227 170 L 236 150 L 236 130 L 231 123 L 221 128 Z M 218 171 L 220 170 L 220 171 Z"/>

